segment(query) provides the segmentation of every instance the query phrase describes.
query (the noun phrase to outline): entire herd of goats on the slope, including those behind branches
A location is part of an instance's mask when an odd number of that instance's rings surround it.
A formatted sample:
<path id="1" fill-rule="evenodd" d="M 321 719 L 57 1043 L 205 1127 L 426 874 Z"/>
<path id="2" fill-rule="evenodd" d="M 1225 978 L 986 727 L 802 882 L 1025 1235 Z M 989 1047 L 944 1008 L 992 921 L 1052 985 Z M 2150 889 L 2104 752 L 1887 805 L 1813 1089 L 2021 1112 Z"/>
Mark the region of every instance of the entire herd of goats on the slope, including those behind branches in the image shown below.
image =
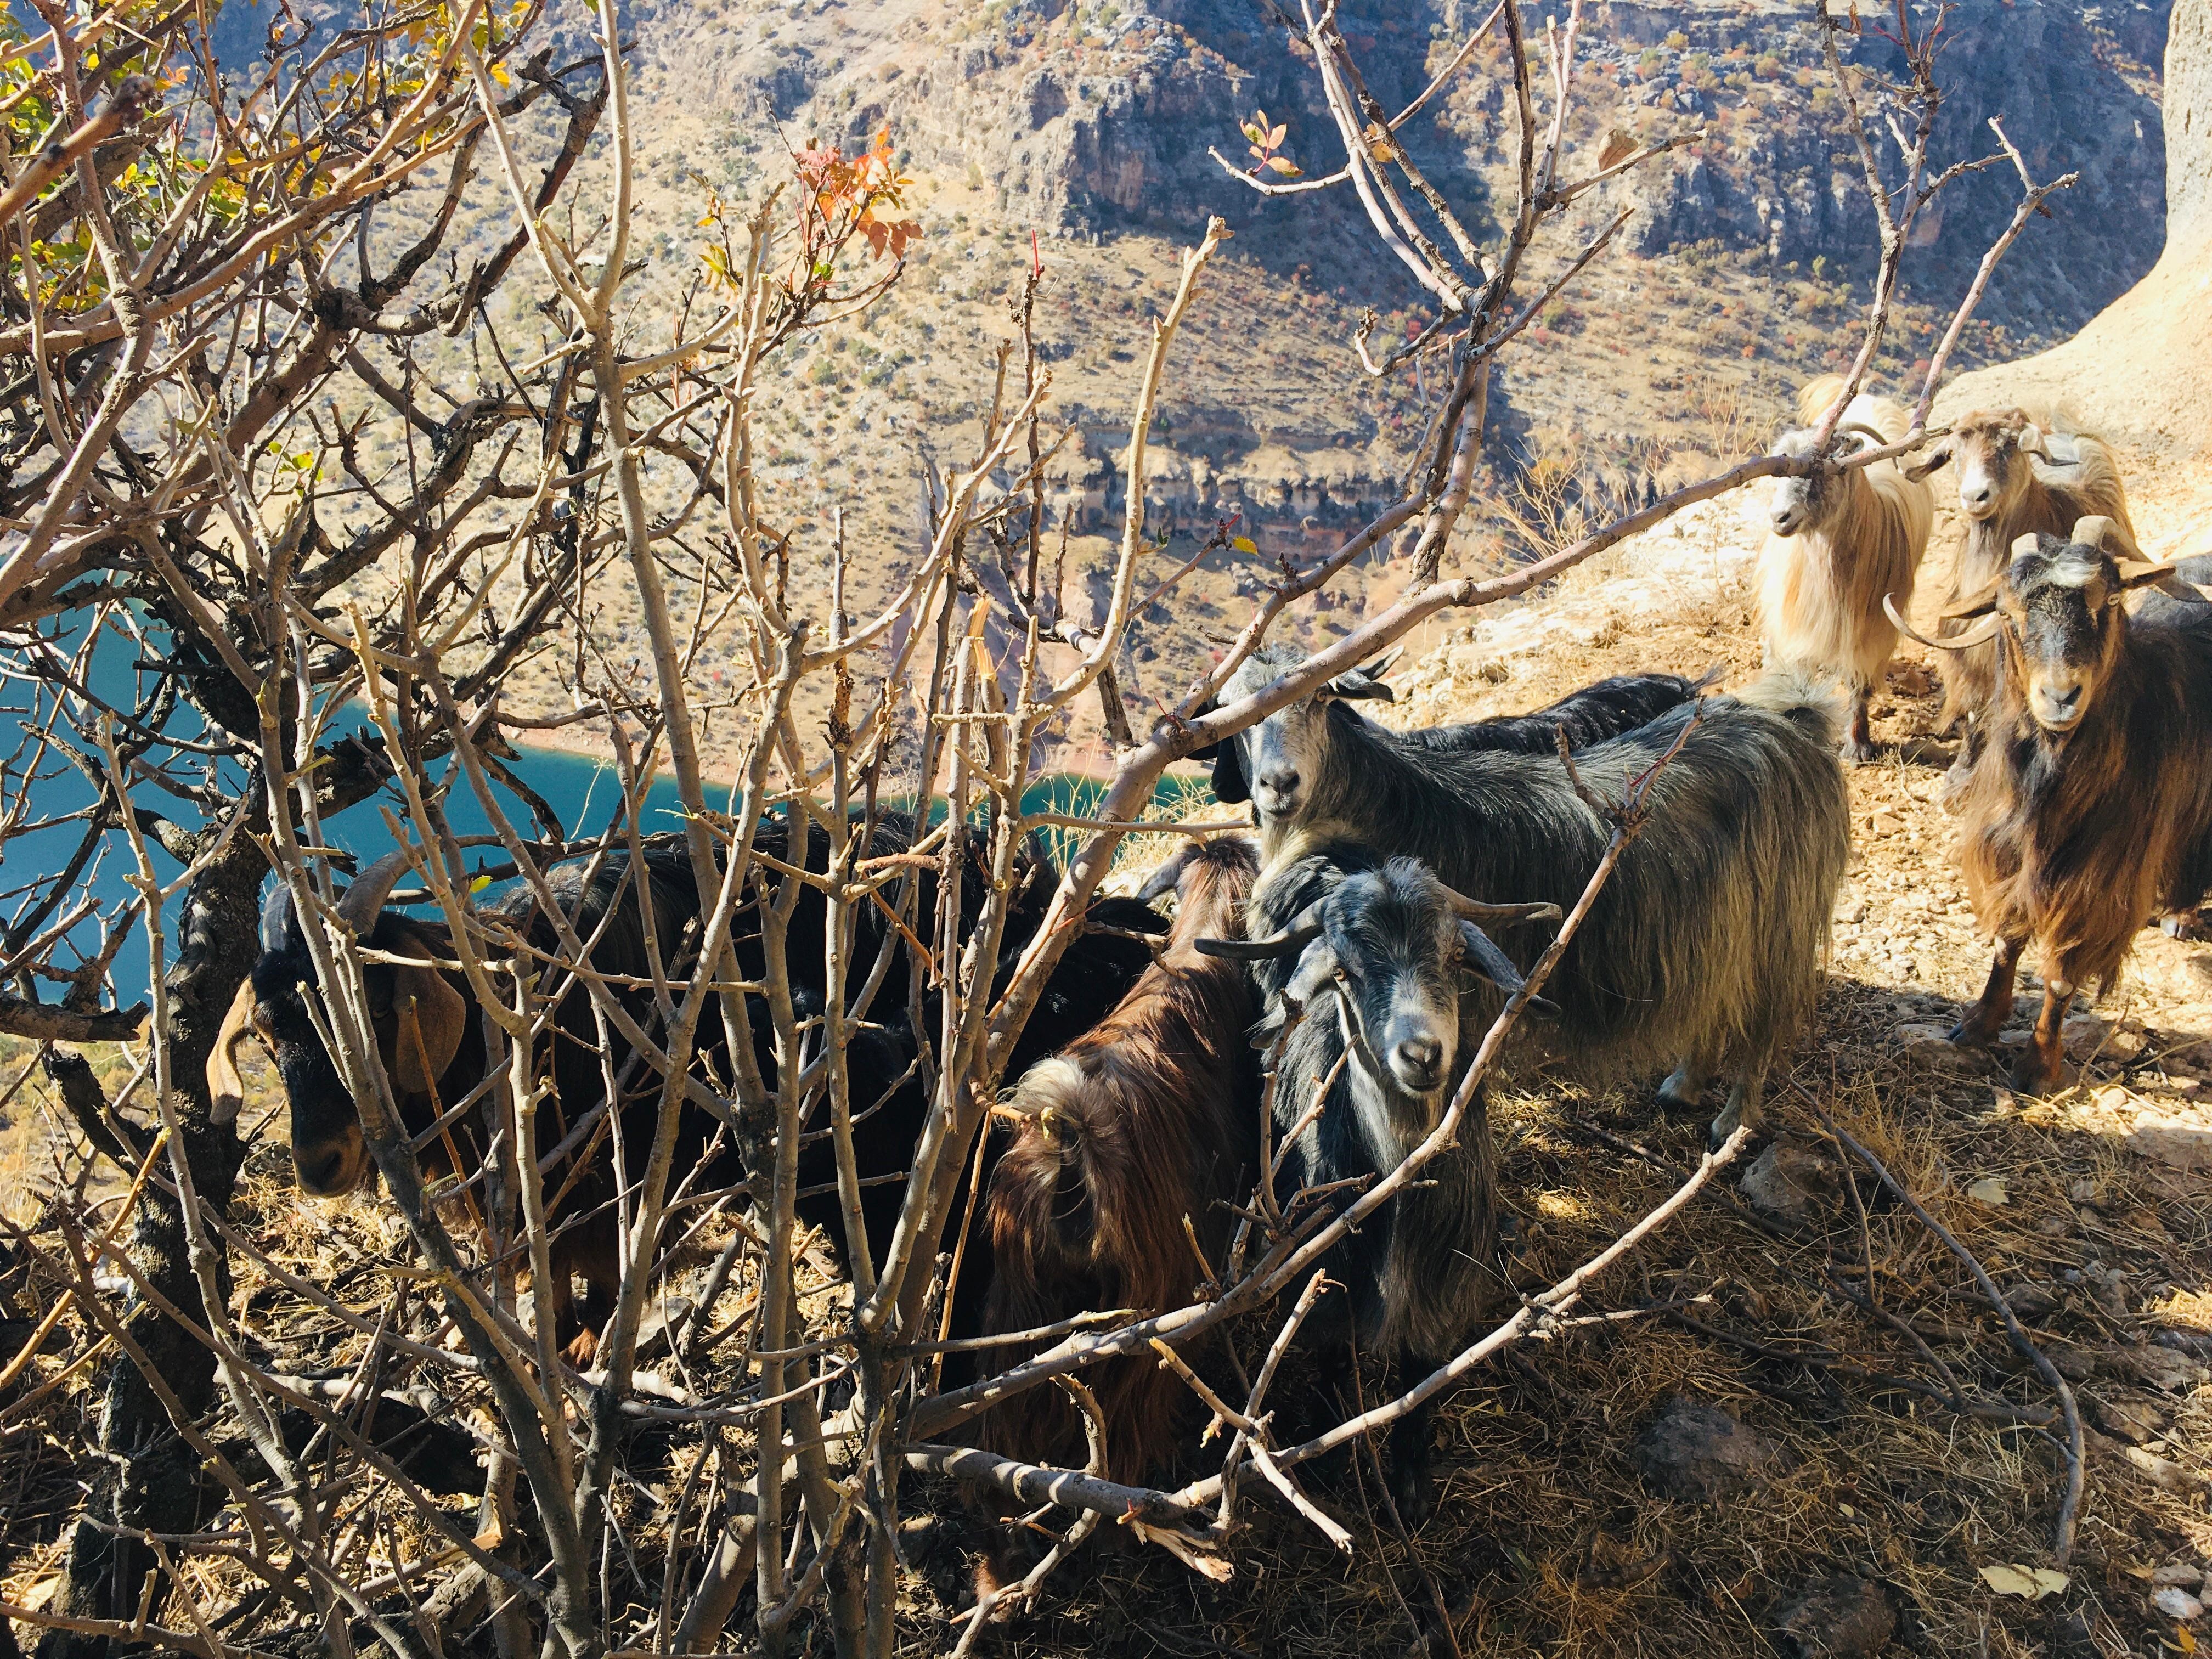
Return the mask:
<path id="1" fill-rule="evenodd" d="M 1834 398 L 1832 383 L 1807 387 L 1801 420 Z M 1896 445 L 1905 414 L 1860 396 L 1838 431 Z M 1792 431 L 1781 451 L 1803 453 L 1812 440 L 1809 429 Z M 1933 518 L 1924 478 L 1944 465 L 1958 473 L 1966 540 L 1924 644 L 1944 668 L 1947 719 L 1964 728 L 1951 801 L 1975 914 L 1997 940 L 1989 984 L 1953 1035 L 1997 1037 L 2015 964 L 2035 940 L 2044 1002 L 2013 1084 L 2053 1088 L 2075 989 L 2108 982 L 2143 925 L 2183 927 L 2212 880 L 2212 604 L 2194 586 L 2212 571 L 2139 557 L 2110 451 L 2064 420 L 2013 409 L 1969 416 L 1909 467 L 1885 458 L 1776 480 L 1761 553 L 1767 666 L 1739 695 L 1630 675 L 1533 714 L 1398 732 L 1358 712 L 1389 688 L 1378 670 L 1354 670 L 1223 741 L 1210 754 L 1214 794 L 1250 803 L 1256 836 L 1228 825 L 1194 836 L 1141 894 L 1099 898 L 1086 914 L 1006 1068 L 1018 1082 L 978 1164 L 956 1332 L 1051 1332 L 1088 1310 L 1188 1305 L 1206 1292 L 1206 1263 L 1223 1261 L 1256 1181 L 1336 1206 L 1398 1168 L 1440 1121 L 1502 998 L 1522 989 L 1542 947 L 1537 925 L 1575 905 L 1606 856 L 1615 823 L 1597 803 L 1624 799 L 1639 779 L 1644 830 L 1531 1004 L 1544 1018 L 1524 1022 L 1515 1042 L 1582 1075 L 1670 1068 L 1659 1102 L 1672 1110 L 1697 1108 L 1723 1077 L 1714 1135 L 1756 1124 L 1767 1068 L 1803 1031 L 1820 984 L 1849 854 L 1840 761 L 1869 754 L 1867 699 L 1898 635 L 1922 637 L 1902 608 Z M 1265 646 L 1223 697 L 1248 697 L 1301 661 L 1296 648 Z M 1849 690 L 1845 719 L 1838 681 Z M 880 816 L 865 852 L 900 852 L 914 834 L 911 818 Z M 763 852 L 827 869 L 827 832 L 810 825 L 805 847 L 796 838 L 783 821 L 759 827 Z M 973 836 L 949 847 L 911 860 L 916 914 L 933 916 L 940 883 L 958 876 L 947 898 L 973 925 L 989 887 L 982 847 Z M 648 936 L 646 905 L 624 898 L 633 865 L 593 869 L 586 878 L 580 865 L 562 867 L 555 891 L 573 905 L 575 936 L 595 940 L 595 967 L 637 984 Z M 392 962 L 451 958 L 440 925 L 387 905 L 403 872 L 403 854 L 367 869 L 341 920 L 374 947 L 369 1006 L 407 1128 L 427 1166 L 467 1181 L 482 1166 L 482 1128 L 473 1115 L 440 1119 L 436 1102 L 473 1097 L 482 1013 L 456 973 Z M 648 849 L 637 880 L 657 938 L 697 920 L 681 849 Z M 1031 849 L 1002 975 L 1057 880 L 1051 858 Z M 1172 920 L 1155 909 L 1168 894 Z M 498 920 L 555 949 L 529 891 L 495 902 Z M 821 984 L 803 982 L 803 964 L 818 973 L 825 960 L 825 914 L 807 887 L 787 925 L 801 1020 L 821 1015 Z M 887 962 L 869 980 L 869 1006 L 849 1015 L 847 1051 L 854 1161 L 880 1261 L 927 1115 L 914 1018 L 936 1015 L 894 925 L 863 905 L 854 927 L 847 960 Z M 319 1037 L 314 967 L 283 885 L 261 945 L 210 1062 L 217 1110 L 234 1110 L 237 1046 L 257 1033 L 290 1095 L 299 1186 L 347 1192 L 372 1166 Z M 761 980 L 759 929 L 741 929 L 737 949 L 743 975 Z M 405 1042 L 400 1009 L 411 1011 Z M 639 993 L 637 1018 L 648 1011 Z M 752 1029 L 770 1022 L 757 1015 Z M 1263 1053 L 1274 1055 L 1272 1079 Z M 626 1088 L 641 1071 L 633 1055 L 606 1060 L 588 998 L 571 989 L 540 1121 L 551 1119 L 568 1161 L 549 1181 L 560 1188 L 551 1259 L 560 1338 L 575 1363 L 588 1360 L 617 1281 L 608 1079 L 635 1110 L 650 1113 L 659 1093 L 653 1079 Z M 765 1046 L 761 1062 L 772 1077 Z M 799 1155 L 799 1217 L 834 1248 L 843 1230 L 827 1117 L 816 1102 Z M 692 1119 L 675 1164 L 688 1190 L 743 1179 L 719 1124 Z M 650 1128 L 633 1130 L 637 1139 Z M 1345 1294 L 1325 1298 L 1305 1336 L 1356 1343 L 1422 1376 L 1471 1340 L 1500 1296 L 1493 1256 L 1493 1152 L 1478 1097 L 1458 1144 L 1338 1245 L 1329 1279 Z M 588 1296 L 575 1298 L 571 1276 Z M 1141 1482 L 1177 1451 L 1183 1385 L 1150 1358 L 1117 1358 L 1091 1376 L 1104 1473 Z M 1057 1389 L 1006 1400 L 978 1433 L 1029 1462 L 1084 1462 L 1084 1425 Z M 1391 1489 L 1409 1520 L 1431 1509 L 1427 1440 L 1427 1413 L 1391 1431 Z"/>

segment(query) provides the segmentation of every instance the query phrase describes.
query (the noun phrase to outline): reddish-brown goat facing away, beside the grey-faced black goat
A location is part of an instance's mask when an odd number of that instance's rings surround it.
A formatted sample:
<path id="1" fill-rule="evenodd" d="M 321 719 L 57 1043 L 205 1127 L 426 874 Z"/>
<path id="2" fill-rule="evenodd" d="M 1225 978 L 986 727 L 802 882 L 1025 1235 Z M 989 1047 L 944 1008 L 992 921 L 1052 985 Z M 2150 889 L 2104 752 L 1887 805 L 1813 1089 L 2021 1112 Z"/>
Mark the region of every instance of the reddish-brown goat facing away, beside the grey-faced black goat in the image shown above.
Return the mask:
<path id="1" fill-rule="evenodd" d="M 1241 836 L 1183 847 L 1146 885 L 1177 891 L 1175 931 L 1121 1004 L 1029 1068 L 1002 1113 L 1020 1128 L 984 1201 L 991 1334 L 1053 1325 L 1097 1307 L 1166 1312 L 1201 1279 L 1199 1243 L 1219 1252 L 1259 1139 L 1256 1068 L 1241 962 L 1197 951 L 1243 938 L 1259 856 Z M 1106 1469 L 1135 1482 L 1172 1444 L 1183 1385 L 1150 1358 L 1088 1374 L 1106 1420 Z M 1084 1462 L 1075 1411 L 1053 1389 L 998 1407 L 991 1444 L 1029 1462 Z"/>

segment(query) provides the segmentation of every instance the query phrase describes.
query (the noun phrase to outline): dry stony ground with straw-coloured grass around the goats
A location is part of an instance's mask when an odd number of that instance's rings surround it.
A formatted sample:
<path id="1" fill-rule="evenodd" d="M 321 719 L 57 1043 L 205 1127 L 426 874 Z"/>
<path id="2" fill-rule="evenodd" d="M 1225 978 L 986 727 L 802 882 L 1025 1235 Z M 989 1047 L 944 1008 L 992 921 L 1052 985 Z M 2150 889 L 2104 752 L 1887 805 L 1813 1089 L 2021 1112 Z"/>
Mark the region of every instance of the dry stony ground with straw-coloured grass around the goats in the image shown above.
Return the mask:
<path id="1" fill-rule="evenodd" d="M 2148 507 L 2146 540 L 2174 549 L 2201 522 L 2192 509 Z M 1719 661 L 1741 681 L 1756 666 L 1754 544 L 1741 504 L 1697 509 L 1533 604 L 1416 641 L 1385 712 L 1427 723 L 1531 708 L 1635 668 Z M 1922 611 L 1944 577 L 1942 549 L 1940 526 Z M 2017 1099 L 1991 1057 L 1944 1044 L 1986 949 L 1938 803 L 1949 752 L 1929 737 L 1938 695 L 1920 657 L 1909 648 L 1893 666 L 1876 703 L 1882 757 L 1851 774 L 1854 860 L 1832 980 L 1792 1077 L 1975 1252 L 2075 1385 L 2086 1491 L 2062 1577 L 2048 1575 L 2066 1469 L 2042 1427 L 2053 1389 L 2011 1349 L 1966 1270 L 1778 1088 L 1776 1159 L 1794 1170 L 1803 1212 L 1770 1219 L 1732 1172 L 1593 1285 L 1582 1312 L 1613 1318 L 1524 1343 L 1480 1371 L 1440 1413 L 1442 1502 L 1418 1535 L 1391 1524 L 1367 1458 L 1323 1467 L 1314 1491 L 1352 1531 L 1349 1555 L 1267 1504 L 1250 1511 L 1225 1584 L 1159 1551 L 1095 1546 L 987 1650 L 1349 1659 L 1413 1652 L 1418 1632 L 1449 1652 L 1436 1635 L 1449 1624 L 1462 1655 L 1750 1657 L 1838 1635 L 1820 1613 L 1838 1597 L 1854 1601 L 1860 1632 L 1889 1630 L 1891 1652 L 2194 1650 L 2190 1626 L 2152 1597 L 2185 1613 L 2212 1557 L 2212 947 L 2143 933 L 2112 995 L 2068 1026 L 2079 1082 L 2051 1099 Z M 248 1166 L 241 1225 L 276 1261 L 316 1263 L 347 1298 L 385 1305 L 385 1265 L 403 1259 L 396 1214 L 374 1197 L 325 1206 L 290 1190 L 283 1121 L 261 1117 L 265 1104 L 274 1097 L 257 1091 L 243 1119 L 261 1119 L 268 1139 Z M 1513 1079 L 1493 1124 L 1509 1261 L 1531 1292 L 1663 1199 L 1703 1144 L 1703 1117 L 1670 1121 L 1644 1093 L 1588 1093 L 1553 1075 Z M 1878 1314 L 1845 1294 L 1869 1256 Z M 816 1285 L 810 1307 L 836 1301 Z M 252 1263 L 239 1263 L 234 1310 L 272 1343 L 316 1347 L 325 1365 L 345 1365 L 358 1340 L 301 1318 Z M 1378 1385 L 1369 1374 L 1360 1387 Z M 1955 1411 L 1953 1385 L 2022 1420 Z M 1763 1438 L 1741 1486 L 1670 1498 L 1639 1473 L 1639 1436 L 1677 1396 Z M 51 1409 L 91 1407 L 77 1391 Z M 44 1436 L 9 1442 L 7 1599 L 35 1601 L 58 1568 L 75 1504 L 60 1451 L 73 1436 L 49 1418 Z M 624 1513 L 639 1548 L 664 1548 L 655 1493 L 681 1473 L 650 1444 L 630 1458 L 637 1489 Z M 900 1652 L 949 1646 L 973 1542 L 951 1491 L 911 1491 Z M 1812 1613 L 1801 1606 L 1809 1590 L 1827 1595 Z"/>

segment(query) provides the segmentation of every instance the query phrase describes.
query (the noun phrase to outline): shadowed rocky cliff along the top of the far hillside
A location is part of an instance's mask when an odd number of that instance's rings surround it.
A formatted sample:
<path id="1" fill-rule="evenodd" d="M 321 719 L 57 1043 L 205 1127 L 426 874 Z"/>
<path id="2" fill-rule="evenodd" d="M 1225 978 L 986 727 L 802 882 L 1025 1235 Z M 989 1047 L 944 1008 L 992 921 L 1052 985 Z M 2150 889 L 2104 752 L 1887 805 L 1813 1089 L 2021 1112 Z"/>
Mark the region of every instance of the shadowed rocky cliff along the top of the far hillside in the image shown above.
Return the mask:
<path id="1" fill-rule="evenodd" d="M 2079 327 L 2157 259 L 2166 204 L 2154 42 L 2168 4 L 1953 7 L 1940 159 L 1991 153 L 1986 119 L 1997 115 L 2039 177 L 2081 173 L 2000 268 L 1984 303 L 1991 321 L 2046 336 Z M 1480 15 L 1462 0 L 1340 9 L 1371 91 L 1391 106 Z M 1279 257 L 1310 261 L 1325 281 L 1378 283 L 1349 192 L 1267 201 L 1208 155 L 1221 148 L 1241 161 L 1237 122 L 1265 108 L 1290 126 L 1285 148 L 1296 159 L 1325 168 L 1340 157 L 1307 64 L 1256 0 L 993 0 L 949 11 L 931 0 L 637 0 L 637 20 L 641 49 L 699 97 L 785 131 L 858 135 L 889 119 L 916 164 L 989 181 L 1002 212 L 1046 234 L 1121 226 L 1194 234 L 1208 215 L 1237 228 L 1294 217 L 1296 239 L 1265 239 L 1294 250 Z M 1871 268 L 1871 215 L 1843 108 L 1796 0 L 1599 0 L 1582 40 L 1586 117 L 1712 131 L 1677 166 L 1639 179 L 1637 252 L 1719 243 L 1801 268 L 1814 259 L 1838 272 Z M 1851 55 L 1876 75 L 1898 69 L 1896 49 L 1871 27 Z M 1409 128 L 1416 161 L 1478 234 L 1513 142 L 1489 69 L 1478 60 L 1440 100 L 1438 119 Z M 1922 221 L 1931 246 L 1911 276 L 1922 296 L 1964 290 L 2013 195 L 2008 168 L 1944 192 Z M 1391 281 L 1383 270 L 1380 285 Z"/>

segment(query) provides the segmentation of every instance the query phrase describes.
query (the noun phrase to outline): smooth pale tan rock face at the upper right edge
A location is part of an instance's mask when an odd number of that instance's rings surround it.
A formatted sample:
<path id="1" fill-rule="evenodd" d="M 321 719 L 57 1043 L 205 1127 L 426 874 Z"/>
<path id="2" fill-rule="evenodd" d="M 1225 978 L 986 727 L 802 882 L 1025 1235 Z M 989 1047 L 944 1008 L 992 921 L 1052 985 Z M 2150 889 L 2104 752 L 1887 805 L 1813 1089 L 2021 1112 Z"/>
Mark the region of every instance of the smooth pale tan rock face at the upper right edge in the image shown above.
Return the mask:
<path id="1" fill-rule="evenodd" d="M 2177 0 L 2166 44 L 2166 252 L 2075 338 L 1960 376 L 1938 416 L 2057 400 L 2159 460 L 2205 453 L 2212 396 L 2212 0 Z"/>

